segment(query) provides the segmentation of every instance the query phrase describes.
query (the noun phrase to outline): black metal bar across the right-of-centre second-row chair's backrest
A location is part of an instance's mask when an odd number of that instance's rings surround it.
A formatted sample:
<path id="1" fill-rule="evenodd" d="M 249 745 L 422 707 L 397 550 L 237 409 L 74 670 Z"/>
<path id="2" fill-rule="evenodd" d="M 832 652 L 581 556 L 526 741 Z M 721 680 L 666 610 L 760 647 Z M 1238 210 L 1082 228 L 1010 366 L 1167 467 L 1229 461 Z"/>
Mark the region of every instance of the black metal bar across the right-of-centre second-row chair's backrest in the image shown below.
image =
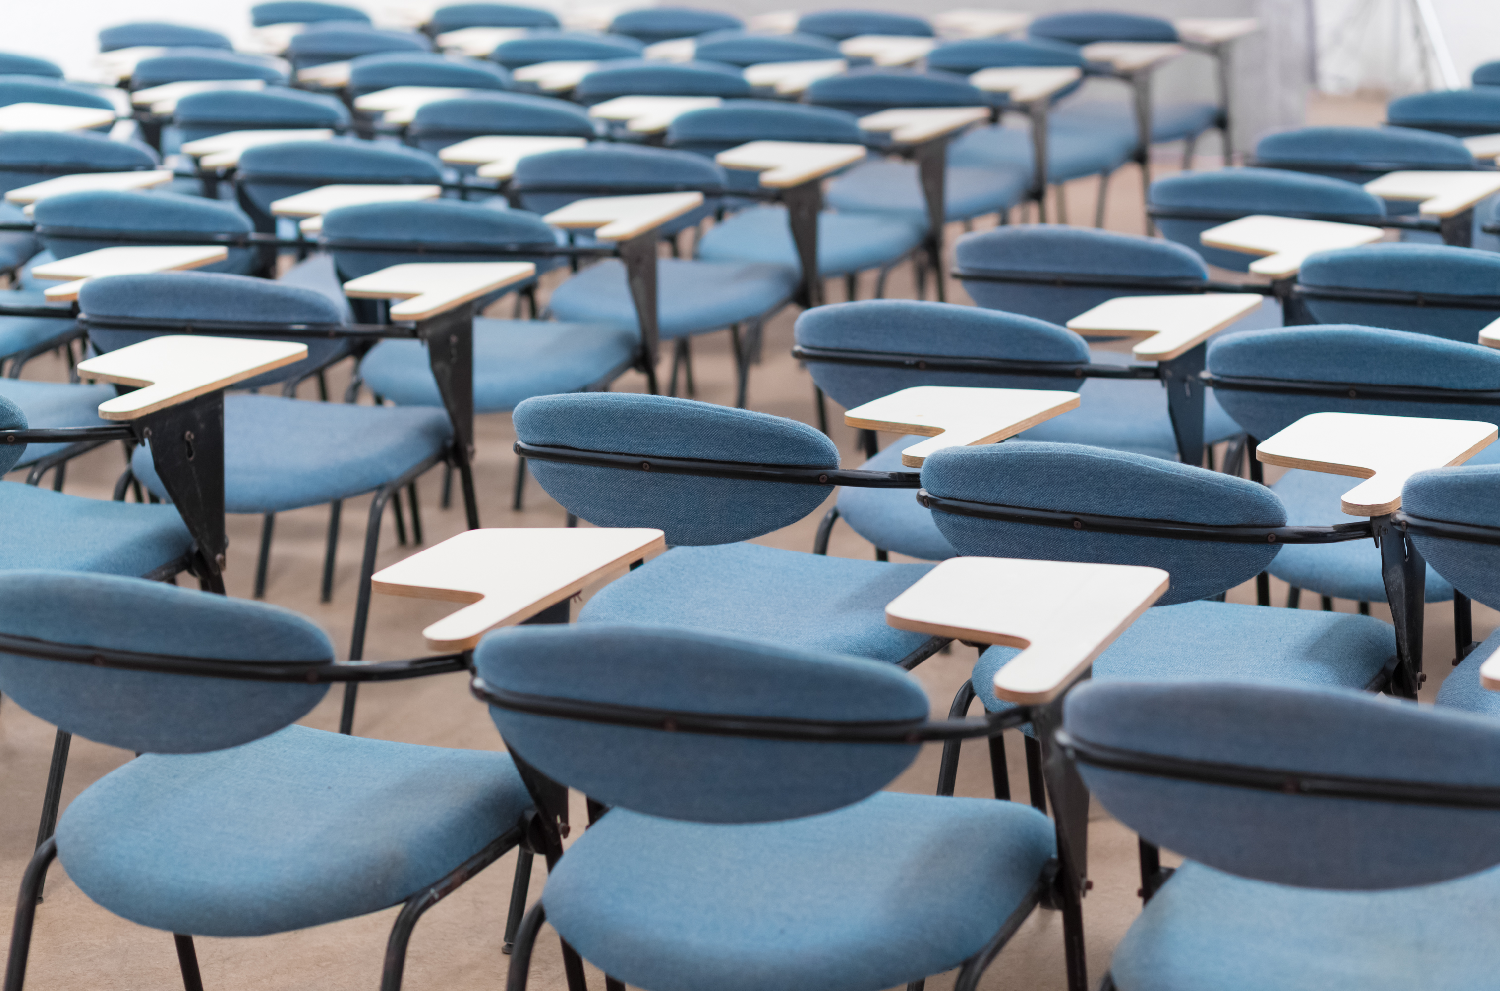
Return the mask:
<path id="1" fill-rule="evenodd" d="M 1347 540 L 1366 540 L 1374 535 L 1368 522 L 1336 523 L 1334 526 L 1218 526 L 1214 523 L 1179 523 L 1174 520 L 1146 520 L 1134 516 L 1065 513 L 1058 510 L 1034 510 L 1020 505 L 945 499 L 932 495 L 926 489 L 916 490 L 916 501 L 938 513 L 972 516 L 1002 523 L 1030 523 L 1034 526 L 1056 526 L 1059 529 L 1080 529 L 1096 534 L 1130 534 L 1132 537 L 1208 540 L 1222 544 L 1338 544 Z"/>

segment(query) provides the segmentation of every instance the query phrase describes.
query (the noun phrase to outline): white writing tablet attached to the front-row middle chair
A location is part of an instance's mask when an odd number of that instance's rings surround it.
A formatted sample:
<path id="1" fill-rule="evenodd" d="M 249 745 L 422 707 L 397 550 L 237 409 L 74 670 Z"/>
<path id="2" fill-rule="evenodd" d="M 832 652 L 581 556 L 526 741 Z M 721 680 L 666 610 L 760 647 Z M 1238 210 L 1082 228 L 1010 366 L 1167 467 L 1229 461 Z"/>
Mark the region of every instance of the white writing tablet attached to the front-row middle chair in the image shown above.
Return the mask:
<path id="1" fill-rule="evenodd" d="M 1167 591 L 1161 568 L 952 558 L 885 607 L 885 622 L 969 643 L 1022 648 L 994 673 L 1006 702 L 1052 702 Z"/>

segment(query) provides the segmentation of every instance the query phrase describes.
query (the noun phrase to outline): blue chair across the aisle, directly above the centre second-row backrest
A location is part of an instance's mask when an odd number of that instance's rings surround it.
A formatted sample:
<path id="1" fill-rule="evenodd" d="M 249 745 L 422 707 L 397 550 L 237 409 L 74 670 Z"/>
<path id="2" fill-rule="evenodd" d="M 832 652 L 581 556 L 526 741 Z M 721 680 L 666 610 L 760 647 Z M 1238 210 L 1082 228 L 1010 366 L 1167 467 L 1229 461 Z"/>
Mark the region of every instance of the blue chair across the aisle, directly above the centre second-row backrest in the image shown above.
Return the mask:
<path id="1" fill-rule="evenodd" d="M 724 169 L 698 154 L 596 142 L 585 148 L 520 159 L 510 181 L 510 195 L 516 205 L 543 214 L 584 196 L 669 190 L 700 190 L 710 196 L 704 207 L 660 229 L 662 235 L 670 237 L 708 214 L 724 184 Z M 590 238 L 574 240 L 586 243 Z M 786 265 L 663 258 L 657 262 L 660 337 L 672 340 L 675 357 L 686 360 L 686 339 L 728 327 L 738 370 L 736 405 L 744 405 L 746 381 L 760 327 L 792 298 L 796 285 L 796 270 Z M 608 324 L 640 333 L 624 264 L 612 258 L 588 265 L 558 286 L 548 309 L 564 322 Z M 741 334 L 741 325 L 746 334 Z M 680 339 L 682 345 L 676 343 Z M 678 360 L 674 360 L 674 391 L 676 370 Z M 687 388 L 692 393 L 692 378 L 687 379 Z"/>

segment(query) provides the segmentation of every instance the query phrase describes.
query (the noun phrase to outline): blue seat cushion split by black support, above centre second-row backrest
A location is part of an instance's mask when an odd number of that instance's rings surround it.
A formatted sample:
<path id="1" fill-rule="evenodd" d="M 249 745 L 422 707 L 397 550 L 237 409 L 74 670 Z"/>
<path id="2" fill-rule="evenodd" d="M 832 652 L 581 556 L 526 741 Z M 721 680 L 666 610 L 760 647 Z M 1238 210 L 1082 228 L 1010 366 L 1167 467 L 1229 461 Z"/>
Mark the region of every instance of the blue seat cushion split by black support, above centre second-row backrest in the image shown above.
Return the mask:
<path id="1" fill-rule="evenodd" d="M 657 261 L 657 321 L 663 337 L 687 337 L 754 319 L 786 303 L 796 289 L 796 268 L 663 258 Z M 608 324 L 640 333 L 626 268 L 615 258 L 590 265 L 548 303 L 552 315 L 574 324 Z"/>

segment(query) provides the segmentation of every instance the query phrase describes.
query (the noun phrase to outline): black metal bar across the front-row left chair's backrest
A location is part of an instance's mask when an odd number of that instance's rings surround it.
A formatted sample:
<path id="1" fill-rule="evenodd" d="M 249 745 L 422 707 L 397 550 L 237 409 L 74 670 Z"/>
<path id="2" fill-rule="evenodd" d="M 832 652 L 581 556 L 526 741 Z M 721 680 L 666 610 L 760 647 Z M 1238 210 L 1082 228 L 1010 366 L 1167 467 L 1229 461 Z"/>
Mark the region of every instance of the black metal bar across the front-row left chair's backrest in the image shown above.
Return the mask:
<path id="1" fill-rule="evenodd" d="M 54 643 L 34 637 L 0 633 L 0 654 L 34 657 L 44 661 L 66 661 L 158 675 L 196 675 L 232 681 L 297 682 L 308 685 L 350 681 L 404 681 L 424 675 L 447 675 L 470 669 L 470 655 L 435 654 L 404 661 L 220 661 L 208 657 L 178 657 L 144 654 L 110 648 Z"/>

